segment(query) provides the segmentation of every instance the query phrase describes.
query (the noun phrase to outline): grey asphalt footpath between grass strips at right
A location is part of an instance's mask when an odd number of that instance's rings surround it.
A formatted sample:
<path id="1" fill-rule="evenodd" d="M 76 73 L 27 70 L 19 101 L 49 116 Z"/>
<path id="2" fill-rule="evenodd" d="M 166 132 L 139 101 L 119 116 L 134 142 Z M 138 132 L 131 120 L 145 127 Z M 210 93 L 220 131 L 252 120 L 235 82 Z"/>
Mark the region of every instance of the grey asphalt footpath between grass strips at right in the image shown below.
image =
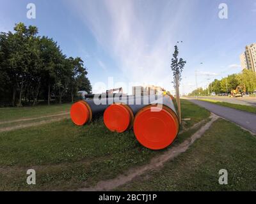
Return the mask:
<path id="1" fill-rule="evenodd" d="M 189 99 L 189 98 L 187 98 Z M 195 103 L 198 106 L 202 106 L 205 109 L 209 110 L 220 117 L 223 117 L 230 122 L 234 122 L 239 126 L 248 129 L 256 134 L 256 114 L 243 112 L 241 110 L 236 110 L 234 108 L 228 108 L 224 106 L 215 105 L 205 101 L 198 101 L 196 99 L 189 99 L 192 103 Z"/>

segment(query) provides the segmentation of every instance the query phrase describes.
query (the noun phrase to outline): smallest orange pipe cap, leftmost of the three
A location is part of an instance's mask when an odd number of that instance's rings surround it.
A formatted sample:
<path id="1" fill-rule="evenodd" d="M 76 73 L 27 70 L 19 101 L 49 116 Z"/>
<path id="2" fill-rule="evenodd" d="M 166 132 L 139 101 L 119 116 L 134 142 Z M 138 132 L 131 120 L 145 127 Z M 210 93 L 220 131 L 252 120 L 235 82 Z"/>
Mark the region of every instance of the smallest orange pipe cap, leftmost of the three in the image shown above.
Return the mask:
<path id="1" fill-rule="evenodd" d="M 83 101 L 79 101 L 71 106 L 70 117 L 74 124 L 83 126 L 90 119 L 90 110 L 88 110 L 88 106 Z"/>

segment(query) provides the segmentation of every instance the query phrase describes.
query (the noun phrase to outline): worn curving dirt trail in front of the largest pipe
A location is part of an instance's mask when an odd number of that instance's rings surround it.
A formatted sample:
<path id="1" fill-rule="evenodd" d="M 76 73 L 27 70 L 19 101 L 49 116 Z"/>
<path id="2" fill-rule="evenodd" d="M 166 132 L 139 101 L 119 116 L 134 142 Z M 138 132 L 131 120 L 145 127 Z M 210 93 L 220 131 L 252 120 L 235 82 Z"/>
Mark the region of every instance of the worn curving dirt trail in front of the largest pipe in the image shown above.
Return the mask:
<path id="1" fill-rule="evenodd" d="M 78 191 L 111 191 L 112 189 L 115 189 L 118 186 L 122 186 L 126 184 L 127 182 L 130 182 L 135 177 L 138 177 L 145 173 L 148 170 L 154 170 L 156 168 L 159 168 L 160 166 L 163 166 L 166 161 L 169 161 L 171 159 L 174 159 L 175 157 L 179 156 L 182 152 L 186 152 L 188 148 L 202 135 L 204 135 L 205 131 L 209 129 L 214 121 L 219 119 L 219 117 L 215 114 L 211 114 L 211 120 L 207 122 L 202 128 L 200 128 L 194 135 L 191 136 L 191 138 L 188 138 L 184 142 L 182 142 L 180 145 L 177 145 L 176 147 L 171 148 L 170 150 L 164 152 L 164 154 L 154 157 L 150 163 L 145 164 L 144 166 L 141 166 L 139 168 L 133 168 L 127 173 L 123 175 L 119 175 L 116 177 L 116 179 L 111 180 L 105 180 L 101 181 L 94 187 L 88 187 L 88 188 L 82 188 L 78 189 Z"/>

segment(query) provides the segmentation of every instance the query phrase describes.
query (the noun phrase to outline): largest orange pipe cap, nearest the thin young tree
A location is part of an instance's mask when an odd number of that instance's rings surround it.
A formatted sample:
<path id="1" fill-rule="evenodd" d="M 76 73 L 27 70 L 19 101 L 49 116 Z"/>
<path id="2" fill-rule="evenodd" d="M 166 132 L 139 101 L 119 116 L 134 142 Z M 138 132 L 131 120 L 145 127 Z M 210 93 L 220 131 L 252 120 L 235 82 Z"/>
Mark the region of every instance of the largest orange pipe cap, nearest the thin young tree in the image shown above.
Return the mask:
<path id="1" fill-rule="evenodd" d="M 155 108 L 152 112 L 151 108 Z M 179 133 L 177 115 L 168 107 L 146 106 L 134 119 L 134 134 L 144 147 L 152 150 L 165 149 Z"/>

